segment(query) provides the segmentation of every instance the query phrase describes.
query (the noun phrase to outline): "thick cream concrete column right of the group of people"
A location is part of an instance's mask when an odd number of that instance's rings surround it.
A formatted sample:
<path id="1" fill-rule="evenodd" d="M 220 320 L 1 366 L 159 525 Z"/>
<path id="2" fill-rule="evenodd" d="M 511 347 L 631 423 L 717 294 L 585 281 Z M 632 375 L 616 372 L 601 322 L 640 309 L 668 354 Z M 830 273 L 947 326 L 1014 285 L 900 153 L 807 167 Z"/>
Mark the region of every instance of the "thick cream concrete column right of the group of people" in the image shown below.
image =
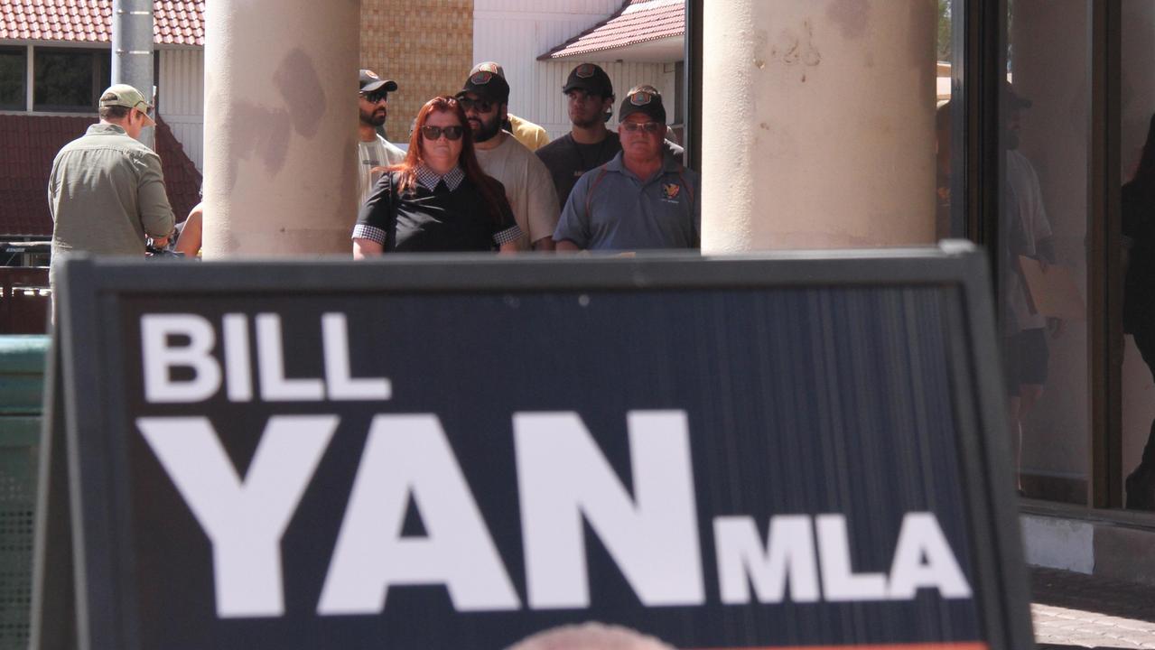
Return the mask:
<path id="1" fill-rule="evenodd" d="M 934 238 L 934 0 L 706 6 L 702 249 Z"/>

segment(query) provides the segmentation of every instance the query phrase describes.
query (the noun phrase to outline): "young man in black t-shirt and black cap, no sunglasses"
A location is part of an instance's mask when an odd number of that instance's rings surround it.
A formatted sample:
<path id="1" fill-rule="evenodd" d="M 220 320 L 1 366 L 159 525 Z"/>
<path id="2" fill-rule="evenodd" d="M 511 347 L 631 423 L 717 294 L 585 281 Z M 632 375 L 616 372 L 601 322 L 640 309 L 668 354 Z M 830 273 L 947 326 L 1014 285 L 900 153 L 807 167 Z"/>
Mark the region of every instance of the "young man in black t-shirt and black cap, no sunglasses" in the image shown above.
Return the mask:
<path id="1" fill-rule="evenodd" d="M 613 115 L 613 83 L 594 63 L 581 63 L 569 73 L 561 88 L 568 98 L 573 128 L 566 135 L 537 150 L 558 190 L 558 202 L 566 204 L 578 179 L 589 170 L 610 162 L 621 143 L 618 134 L 605 128 Z"/>

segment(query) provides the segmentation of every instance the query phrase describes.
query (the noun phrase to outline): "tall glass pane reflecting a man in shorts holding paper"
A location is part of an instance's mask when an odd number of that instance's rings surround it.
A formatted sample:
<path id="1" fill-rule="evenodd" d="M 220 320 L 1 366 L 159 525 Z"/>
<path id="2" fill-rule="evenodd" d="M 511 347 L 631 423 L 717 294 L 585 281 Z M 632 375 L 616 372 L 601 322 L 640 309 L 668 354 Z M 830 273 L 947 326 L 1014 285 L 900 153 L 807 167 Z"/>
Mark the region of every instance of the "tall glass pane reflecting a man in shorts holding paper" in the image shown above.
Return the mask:
<path id="1" fill-rule="evenodd" d="M 1088 5 L 1008 2 L 999 328 L 1028 496 L 1087 502 Z"/>

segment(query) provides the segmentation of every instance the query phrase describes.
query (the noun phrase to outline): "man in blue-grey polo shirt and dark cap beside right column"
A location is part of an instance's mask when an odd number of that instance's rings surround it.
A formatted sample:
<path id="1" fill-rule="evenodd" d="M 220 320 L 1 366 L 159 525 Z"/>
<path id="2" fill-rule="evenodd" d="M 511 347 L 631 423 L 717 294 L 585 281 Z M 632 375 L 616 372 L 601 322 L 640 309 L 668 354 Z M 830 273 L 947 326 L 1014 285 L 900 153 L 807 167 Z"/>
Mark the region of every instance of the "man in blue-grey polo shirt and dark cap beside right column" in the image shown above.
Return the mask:
<path id="1" fill-rule="evenodd" d="M 553 233 L 558 251 L 698 248 L 698 173 L 665 150 L 661 94 L 631 89 L 618 122 L 621 152 L 578 180 Z"/>

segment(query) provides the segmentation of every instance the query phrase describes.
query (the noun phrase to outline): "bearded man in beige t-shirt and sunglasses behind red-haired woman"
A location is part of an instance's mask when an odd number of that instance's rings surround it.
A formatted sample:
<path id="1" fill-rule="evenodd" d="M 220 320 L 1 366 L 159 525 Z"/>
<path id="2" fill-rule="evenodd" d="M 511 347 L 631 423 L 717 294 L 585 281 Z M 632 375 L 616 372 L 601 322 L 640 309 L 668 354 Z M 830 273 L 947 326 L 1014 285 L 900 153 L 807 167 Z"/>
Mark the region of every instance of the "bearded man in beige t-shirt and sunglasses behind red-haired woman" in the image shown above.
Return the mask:
<path id="1" fill-rule="evenodd" d="M 509 84 L 501 75 L 480 69 L 465 80 L 457 100 L 465 110 L 482 171 L 505 186 L 514 218 L 524 233 L 517 248 L 552 251 L 560 212 L 558 196 L 545 165 L 501 128 L 508 114 Z"/>

